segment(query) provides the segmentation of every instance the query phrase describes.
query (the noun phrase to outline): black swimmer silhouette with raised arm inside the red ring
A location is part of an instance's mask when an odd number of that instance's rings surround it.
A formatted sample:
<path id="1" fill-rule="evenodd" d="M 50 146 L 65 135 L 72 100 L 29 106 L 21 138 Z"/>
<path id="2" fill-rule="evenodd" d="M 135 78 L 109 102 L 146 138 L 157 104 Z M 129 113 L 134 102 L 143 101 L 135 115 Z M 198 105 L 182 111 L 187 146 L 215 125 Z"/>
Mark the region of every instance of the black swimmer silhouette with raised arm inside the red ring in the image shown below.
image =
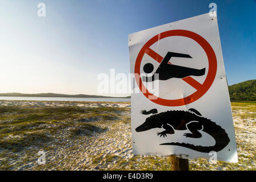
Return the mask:
<path id="1" fill-rule="evenodd" d="M 187 76 L 203 76 L 205 75 L 205 68 L 203 69 L 194 69 L 181 67 L 174 64 L 169 64 L 171 57 L 186 57 L 192 58 L 190 55 L 176 52 L 167 52 L 165 58 L 161 61 L 157 71 L 151 77 L 142 76 L 142 81 L 151 82 L 154 80 L 168 80 L 170 78 L 185 78 Z M 147 63 L 143 67 L 145 73 L 151 73 L 154 69 L 153 64 Z M 155 77 L 155 74 L 158 73 L 158 78 Z"/>

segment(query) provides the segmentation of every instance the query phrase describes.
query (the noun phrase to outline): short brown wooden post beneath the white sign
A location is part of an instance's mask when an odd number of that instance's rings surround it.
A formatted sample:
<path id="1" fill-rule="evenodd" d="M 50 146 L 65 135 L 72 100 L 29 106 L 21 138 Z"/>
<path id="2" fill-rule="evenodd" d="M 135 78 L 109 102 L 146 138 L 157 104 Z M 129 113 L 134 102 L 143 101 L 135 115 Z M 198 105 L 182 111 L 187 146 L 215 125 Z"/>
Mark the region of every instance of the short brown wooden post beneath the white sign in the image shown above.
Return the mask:
<path id="1" fill-rule="evenodd" d="M 189 159 L 181 159 L 177 156 L 169 156 L 171 171 L 189 171 Z"/>

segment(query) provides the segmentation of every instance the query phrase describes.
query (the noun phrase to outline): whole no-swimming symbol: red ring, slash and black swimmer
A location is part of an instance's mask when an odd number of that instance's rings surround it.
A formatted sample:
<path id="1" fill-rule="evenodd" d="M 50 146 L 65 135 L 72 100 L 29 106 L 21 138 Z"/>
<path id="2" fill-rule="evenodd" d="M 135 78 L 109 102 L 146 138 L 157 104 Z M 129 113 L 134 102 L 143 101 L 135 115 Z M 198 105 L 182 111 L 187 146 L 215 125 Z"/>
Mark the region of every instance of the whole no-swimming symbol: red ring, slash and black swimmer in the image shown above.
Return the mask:
<path id="1" fill-rule="evenodd" d="M 171 57 L 187 57 L 191 58 L 190 55 L 185 55 L 182 53 L 176 53 L 176 52 L 167 52 L 165 58 L 158 55 L 157 52 L 153 51 L 153 49 L 150 48 L 151 45 L 153 45 L 155 42 L 167 38 L 169 36 L 185 36 L 187 38 L 193 39 L 195 42 L 197 42 L 203 50 L 206 52 L 207 59 L 209 61 L 209 71 L 207 73 L 206 79 L 203 82 L 203 84 L 200 84 L 198 81 L 194 80 L 194 78 L 190 76 L 202 76 L 205 74 L 205 68 L 204 69 L 193 69 L 193 68 L 186 68 L 186 67 L 179 67 L 177 65 L 170 65 L 170 69 L 168 70 L 169 60 Z M 182 106 L 190 104 L 191 102 L 194 102 L 198 100 L 200 97 L 203 96 L 207 92 L 207 90 L 210 88 L 211 84 L 213 84 L 216 72 L 217 72 L 217 59 L 215 56 L 215 53 L 213 51 L 213 48 L 210 46 L 210 44 L 202 38 L 202 36 L 195 34 L 194 32 L 187 31 L 187 30 L 170 30 L 162 32 L 161 34 L 155 35 L 153 38 L 151 38 L 139 51 L 139 54 L 137 56 L 136 62 L 135 62 L 135 69 L 134 73 L 137 73 L 138 75 L 141 75 L 140 73 L 140 67 L 141 67 L 141 61 L 144 54 L 149 55 L 152 57 L 155 61 L 160 63 L 162 66 L 161 68 L 158 68 L 156 73 L 159 74 L 159 80 L 167 80 L 171 77 L 177 77 L 182 78 L 183 81 L 187 82 L 187 84 L 193 86 L 193 88 L 197 89 L 196 92 L 191 94 L 190 96 L 187 96 L 185 98 L 179 98 L 177 100 L 167 100 L 164 98 L 156 98 L 151 101 L 155 102 L 156 104 L 163 105 L 163 106 Z M 171 67 L 172 66 L 172 67 Z M 153 68 L 150 64 L 146 64 L 143 68 L 146 73 L 149 73 L 150 71 L 153 71 Z M 161 70 L 162 69 L 162 70 Z M 175 70 L 175 72 L 179 73 L 177 75 L 172 75 L 172 70 Z M 162 74 L 163 73 L 163 74 Z M 169 73 L 169 74 L 168 74 Z M 135 77 L 137 84 L 139 86 L 140 90 L 146 90 L 143 94 L 150 98 L 150 96 L 153 96 L 152 93 L 149 92 L 149 90 L 146 89 L 145 85 L 143 85 L 142 81 L 152 80 L 154 81 L 154 76 L 150 79 L 147 79 L 146 77 Z M 162 79 L 161 79 L 162 78 Z"/>

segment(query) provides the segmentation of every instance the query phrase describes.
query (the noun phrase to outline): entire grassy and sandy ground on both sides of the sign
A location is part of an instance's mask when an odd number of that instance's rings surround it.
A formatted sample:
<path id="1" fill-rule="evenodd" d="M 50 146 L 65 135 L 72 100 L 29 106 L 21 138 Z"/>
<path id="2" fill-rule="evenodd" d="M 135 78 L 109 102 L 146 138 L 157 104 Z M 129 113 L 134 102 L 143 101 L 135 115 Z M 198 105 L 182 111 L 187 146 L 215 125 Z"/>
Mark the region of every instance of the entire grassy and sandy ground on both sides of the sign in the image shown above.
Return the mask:
<path id="1" fill-rule="evenodd" d="M 231 106 L 239 162 L 189 160 L 190 170 L 256 170 L 256 102 Z M 170 160 L 132 154 L 129 107 L 0 106 L 0 169 L 170 170 Z"/>

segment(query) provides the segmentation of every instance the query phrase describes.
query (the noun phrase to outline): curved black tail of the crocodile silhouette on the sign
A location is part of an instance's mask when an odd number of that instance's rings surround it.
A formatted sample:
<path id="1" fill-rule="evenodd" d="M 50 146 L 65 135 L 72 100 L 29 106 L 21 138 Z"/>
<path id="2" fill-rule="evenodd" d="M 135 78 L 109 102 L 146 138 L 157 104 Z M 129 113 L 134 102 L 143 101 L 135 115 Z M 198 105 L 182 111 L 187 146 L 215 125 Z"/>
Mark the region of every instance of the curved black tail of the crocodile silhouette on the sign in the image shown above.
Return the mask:
<path id="1" fill-rule="evenodd" d="M 216 123 L 210 121 L 210 119 L 203 118 L 206 122 L 203 122 L 203 130 L 207 134 L 211 135 L 215 139 L 215 145 L 214 146 L 195 146 L 193 144 L 189 143 L 162 143 L 161 145 L 172 145 L 172 146 L 181 146 L 190 148 L 192 150 L 198 151 L 198 152 L 211 152 L 211 151 L 221 151 L 223 148 L 229 144 L 230 139 L 227 135 L 226 131 L 222 129 L 221 126 L 217 125 Z M 201 120 L 201 119 L 200 119 Z"/>

